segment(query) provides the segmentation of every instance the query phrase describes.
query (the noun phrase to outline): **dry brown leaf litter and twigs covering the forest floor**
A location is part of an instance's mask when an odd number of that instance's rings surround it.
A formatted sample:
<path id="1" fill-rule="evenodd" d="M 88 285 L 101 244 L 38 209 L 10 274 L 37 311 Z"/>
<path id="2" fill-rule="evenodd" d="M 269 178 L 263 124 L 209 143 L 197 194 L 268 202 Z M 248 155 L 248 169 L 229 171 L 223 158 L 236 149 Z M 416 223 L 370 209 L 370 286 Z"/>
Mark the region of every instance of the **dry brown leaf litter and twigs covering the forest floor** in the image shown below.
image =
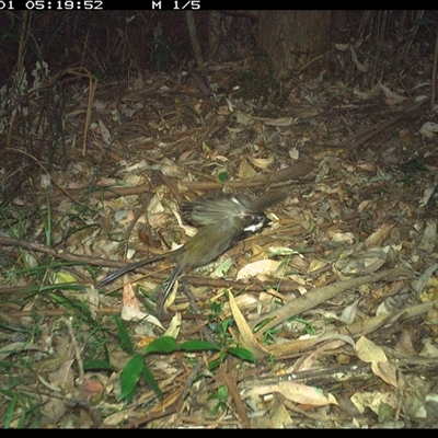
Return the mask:
<path id="1" fill-rule="evenodd" d="M 142 105 L 130 90 L 119 113 L 97 87 L 85 155 L 67 132 L 67 168 L 41 169 L 34 196 L 3 214 L 0 355 L 44 405 L 39 424 L 436 426 L 438 158 L 423 79 L 408 92 L 391 79 L 371 90 L 297 80 L 289 107 L 265 108 L 207 101 L 178 79 L 137 78 Z M 289 196 L 267 211 L 270 227 L 182 278 L 171 316 L 154 313 L 166 260 L 99 287 L 189 238 L 182 200 L 272 188 Z M 164 334 L 222 349 L 145 355 L 122 403 L 134 351 Z"/>

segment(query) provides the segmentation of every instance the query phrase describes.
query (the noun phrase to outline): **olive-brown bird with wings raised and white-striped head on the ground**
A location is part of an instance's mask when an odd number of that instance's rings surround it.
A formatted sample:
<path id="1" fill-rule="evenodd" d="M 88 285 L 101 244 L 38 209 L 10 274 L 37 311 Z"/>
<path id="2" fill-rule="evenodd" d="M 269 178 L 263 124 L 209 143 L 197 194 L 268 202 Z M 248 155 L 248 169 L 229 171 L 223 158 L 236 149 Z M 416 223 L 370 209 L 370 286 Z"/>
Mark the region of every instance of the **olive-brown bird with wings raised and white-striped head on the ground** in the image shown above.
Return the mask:
<path id="1" fill-rule="evenodd" d="M 263 208 L 285 197 L 285 194 L 273 194 L 254 200 L 244 195 L 222 195 L 184 203 L 181 206 L 184 219 L 200 227 L 192 239 L 177 250 L 127 264 L 100 284 L 105 286 L 123 274 L 169 257 L 175 263 L 175 268 L 162 292 L 160 301 L 164 302 L 183 272 L 214 262 L 238 241 L 262 230 L 269 222 Z"/>

